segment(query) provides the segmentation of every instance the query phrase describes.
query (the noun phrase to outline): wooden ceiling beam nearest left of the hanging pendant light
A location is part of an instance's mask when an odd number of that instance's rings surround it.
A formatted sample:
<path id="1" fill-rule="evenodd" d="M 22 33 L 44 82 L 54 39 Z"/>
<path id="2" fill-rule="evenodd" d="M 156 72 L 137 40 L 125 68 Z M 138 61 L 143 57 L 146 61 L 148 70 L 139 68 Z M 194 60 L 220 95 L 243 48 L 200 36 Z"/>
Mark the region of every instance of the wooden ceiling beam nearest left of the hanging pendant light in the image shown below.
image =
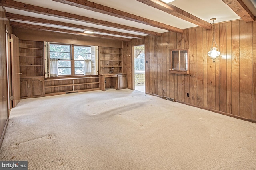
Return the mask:
<path id="1" fill-rule="evenodd" d="M 171 4 L 166 4 L 160 0 L 136 0 L 138 2 L 142 2 L 143 4 L 147 4 L 148 6 L 157 8 L 158 10 L 164 11 L 168 14 L 181 18 L 182 20 L 186 20 L 188 22 L 194 23 L 202 28 L 211 29 L 212 24 L 208 23 L 176 6 Z"/>

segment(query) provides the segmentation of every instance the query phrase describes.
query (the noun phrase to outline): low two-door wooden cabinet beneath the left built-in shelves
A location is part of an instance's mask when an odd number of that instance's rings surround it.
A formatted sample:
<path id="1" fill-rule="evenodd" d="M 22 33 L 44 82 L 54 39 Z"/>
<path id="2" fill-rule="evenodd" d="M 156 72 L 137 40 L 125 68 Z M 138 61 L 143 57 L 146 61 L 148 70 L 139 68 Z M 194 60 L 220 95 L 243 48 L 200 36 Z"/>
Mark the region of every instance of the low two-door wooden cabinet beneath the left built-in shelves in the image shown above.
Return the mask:
<path id="1" fill-rule="evenodd" d="M 44 96 L 44 78 L 20 78 L 20 98 Z"/>

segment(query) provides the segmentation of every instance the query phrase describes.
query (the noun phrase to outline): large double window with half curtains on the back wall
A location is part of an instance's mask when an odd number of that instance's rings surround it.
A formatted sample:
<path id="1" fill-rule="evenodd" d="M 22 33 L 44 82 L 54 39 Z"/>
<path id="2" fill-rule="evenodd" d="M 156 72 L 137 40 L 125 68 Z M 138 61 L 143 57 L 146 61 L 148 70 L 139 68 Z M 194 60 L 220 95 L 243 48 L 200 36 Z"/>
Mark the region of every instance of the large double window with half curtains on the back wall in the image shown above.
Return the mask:
<path id="1" fill-rule="evenodd" d="M 92 59 L 90 46 L 50 43 L 48 60 L 50 76 L 96 75 L 97 72 L 92 70 L 97 67 L 92 65 L 96 58 Z"/>

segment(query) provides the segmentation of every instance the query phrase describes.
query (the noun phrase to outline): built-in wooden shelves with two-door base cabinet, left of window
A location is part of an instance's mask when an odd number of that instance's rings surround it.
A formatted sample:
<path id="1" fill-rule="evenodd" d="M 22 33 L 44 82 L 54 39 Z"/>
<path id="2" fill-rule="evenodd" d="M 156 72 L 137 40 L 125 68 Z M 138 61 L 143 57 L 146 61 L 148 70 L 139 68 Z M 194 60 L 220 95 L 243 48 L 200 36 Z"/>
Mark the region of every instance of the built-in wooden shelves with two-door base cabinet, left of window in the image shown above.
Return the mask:
<path id="1" fill-rule="evenodd" d="M 44 42 L 19 41 L 20 98 L 44 96 Z"/>

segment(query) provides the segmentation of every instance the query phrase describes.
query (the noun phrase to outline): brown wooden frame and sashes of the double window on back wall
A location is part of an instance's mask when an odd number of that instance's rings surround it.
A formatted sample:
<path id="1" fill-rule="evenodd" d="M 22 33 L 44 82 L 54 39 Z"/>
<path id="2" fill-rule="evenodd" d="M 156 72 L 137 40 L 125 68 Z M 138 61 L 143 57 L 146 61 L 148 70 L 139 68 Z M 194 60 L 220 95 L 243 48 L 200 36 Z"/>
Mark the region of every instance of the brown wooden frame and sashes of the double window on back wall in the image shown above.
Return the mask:
<path id="1" fill-rule="evenodd" d="M 89 46 L 89 45 L 66 44 L 66 43 L 52 43 L 52 42 L 49 43 L 49 46 L 51 44 L 55 44 L 55 45 L 69 45 L 70 46 L 70 59 L 59 59 L 59 61 L 70 61 L 70 63 L 71 63 L 71 67 L 70 67 L 71 74 L 61 74 L 61 75 L 58 74 L 58 77 L 65 77 L 65 76 L 88 76 L 88 75 L 84 75 L 84 74 L 76 74 L 75 68 L 77 68 L 77 67 L 75 67 L 75 61 L 80 61 L 82 59 L 75 59 L 74 47 L 75 46 L 81 46 L 81 47 L 90 47 L 91 48 L 91 46 Z M 49 48 L 49 51 L 50 51 L 50 48 Z M 92 50 L 91 50 L 90 54 L 91 54 L 91 60 L 92 60 Z"/>

